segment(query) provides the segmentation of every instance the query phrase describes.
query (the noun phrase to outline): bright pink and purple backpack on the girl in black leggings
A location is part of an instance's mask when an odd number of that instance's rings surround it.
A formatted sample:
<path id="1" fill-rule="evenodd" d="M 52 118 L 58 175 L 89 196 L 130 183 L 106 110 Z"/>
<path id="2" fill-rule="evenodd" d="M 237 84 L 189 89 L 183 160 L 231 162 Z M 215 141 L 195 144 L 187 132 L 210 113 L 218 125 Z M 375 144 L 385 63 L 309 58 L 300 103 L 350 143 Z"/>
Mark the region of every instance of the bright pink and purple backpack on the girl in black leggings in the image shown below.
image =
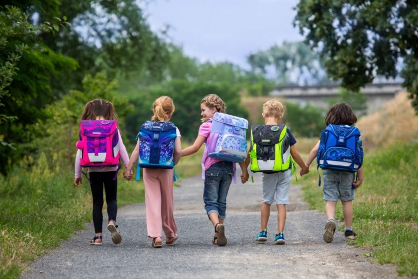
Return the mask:
<path id="1" fill-rule="evenodd" d="M 82 120 L 80 140 L 80 165 L 117 166 L 119 164 L 119 134 L 116 120 Z"/>

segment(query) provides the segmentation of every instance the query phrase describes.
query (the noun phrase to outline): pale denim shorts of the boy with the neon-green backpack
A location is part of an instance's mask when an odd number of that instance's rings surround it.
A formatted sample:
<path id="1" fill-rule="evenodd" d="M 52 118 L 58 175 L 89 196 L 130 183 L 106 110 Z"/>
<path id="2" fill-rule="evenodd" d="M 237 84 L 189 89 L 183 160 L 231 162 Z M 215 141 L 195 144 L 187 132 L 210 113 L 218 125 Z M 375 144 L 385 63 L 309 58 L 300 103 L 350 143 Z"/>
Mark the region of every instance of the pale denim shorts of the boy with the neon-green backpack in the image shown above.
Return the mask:
<path id="1" fill-rule="evenodd" d="M 263 203 L 271 205 L 276 196 L 276 204 L 289 204 L 291 174 L 292 170 L 290 169 L 284 172 L 262 174 Z"/>

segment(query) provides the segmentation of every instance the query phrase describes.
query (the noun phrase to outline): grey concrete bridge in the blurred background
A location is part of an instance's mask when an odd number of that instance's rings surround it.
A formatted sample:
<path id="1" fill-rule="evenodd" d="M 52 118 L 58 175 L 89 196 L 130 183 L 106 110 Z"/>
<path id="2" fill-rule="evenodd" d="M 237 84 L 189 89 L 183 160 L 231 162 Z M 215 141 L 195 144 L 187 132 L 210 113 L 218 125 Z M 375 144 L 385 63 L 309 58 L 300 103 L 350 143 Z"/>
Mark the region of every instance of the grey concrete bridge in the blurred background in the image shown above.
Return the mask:
<path id="1" fill-rule="evenodd" d="M 309 102 L 316 107 L 328 109 L 328 100 L 337 99 L 340 88 L 338 84 L 279 86 L 269 95 L 297 103 Z M 378 110 L 383 103 L 393 99 L 400 91 L 405 91 L 402 83 L 371 83 L 360 89 L 360 92 L 367 97 L 367 113 Z"/>

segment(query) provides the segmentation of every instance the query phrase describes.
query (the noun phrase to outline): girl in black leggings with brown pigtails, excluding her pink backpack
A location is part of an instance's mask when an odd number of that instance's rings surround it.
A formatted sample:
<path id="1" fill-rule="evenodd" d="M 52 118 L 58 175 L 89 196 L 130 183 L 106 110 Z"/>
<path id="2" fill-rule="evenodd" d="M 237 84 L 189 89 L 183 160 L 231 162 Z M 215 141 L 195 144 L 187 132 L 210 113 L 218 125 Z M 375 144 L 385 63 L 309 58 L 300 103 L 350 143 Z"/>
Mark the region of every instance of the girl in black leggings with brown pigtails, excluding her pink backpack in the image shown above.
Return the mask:
<path id="1" fill-rule="evenodd" d="M 114 111 L 113 104 L 110 102 L 105 102 L 101 99 L 95 99 L 90 101 L 84 107 L 84 111 L 81 117 L 83 120 L 102 120 L 106 122 L 106 120 L 115 120 L 117 121 L 117 115 Z M 107 122 L 106 122 L 107 123 Z M 81 131 L 83 132 L 83 131 Z M 129 162 L 129 156 L 126 151 L 126 147 L 123 144 L 122 138 L 120 136 L 119 130 L 116 129 L 117 132 L 117 140 L 119 151 L 118 154 L 120 155 L 124 166 L 126 167 Z M 80 142 L 80 141 L 79 141 Z M 78 151 L 76 155 L 75 161 L 75 178 L 74 184 L 77 187 L 80 187 L 83 184 L 83 180 L 81 178 L 82 174 L 82 157 L 85 155 L 81 145 L 77 143 Z M 106 204 L 107 204 L 107 215 L 108 215 L 108 224 L 107 229 L 111 233 L 111 239 L 114 244 L 119 244 L 122 241 L 122 236 L 117 229 L 116 225 L 116 214 L 117 214 L 117 171 L 118 166 L 90 166 L 87 168 L 87 172 L 89 173 L 90 178 L 88 178 L 90 182 L 90 188 L 92 190 L 93 196 L 93 224 L 95 227 L 95 236 L 90 241 L 92 245 L 102 245 L 103 242 L 103 232 L 102 232 L 102 225 L 103 225 L 103 188 L 106 194 Z M 87 176 L 87 175 L 86 175 Z"/>

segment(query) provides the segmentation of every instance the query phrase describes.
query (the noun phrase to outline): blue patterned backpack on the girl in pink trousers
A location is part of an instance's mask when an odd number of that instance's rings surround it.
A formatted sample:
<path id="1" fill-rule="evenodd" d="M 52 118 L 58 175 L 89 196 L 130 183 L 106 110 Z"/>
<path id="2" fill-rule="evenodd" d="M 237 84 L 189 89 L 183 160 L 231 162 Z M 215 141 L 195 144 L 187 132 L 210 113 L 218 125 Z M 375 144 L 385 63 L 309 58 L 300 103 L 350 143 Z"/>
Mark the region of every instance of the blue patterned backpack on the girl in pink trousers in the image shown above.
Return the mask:
<path id="1" fill-rule="evenodd" d="M 171 122 L 146 121 L 135 139 L 139 141 L 138 168 L 174 168 L 174 143 L 177 138 L 176 127 Z"/>

